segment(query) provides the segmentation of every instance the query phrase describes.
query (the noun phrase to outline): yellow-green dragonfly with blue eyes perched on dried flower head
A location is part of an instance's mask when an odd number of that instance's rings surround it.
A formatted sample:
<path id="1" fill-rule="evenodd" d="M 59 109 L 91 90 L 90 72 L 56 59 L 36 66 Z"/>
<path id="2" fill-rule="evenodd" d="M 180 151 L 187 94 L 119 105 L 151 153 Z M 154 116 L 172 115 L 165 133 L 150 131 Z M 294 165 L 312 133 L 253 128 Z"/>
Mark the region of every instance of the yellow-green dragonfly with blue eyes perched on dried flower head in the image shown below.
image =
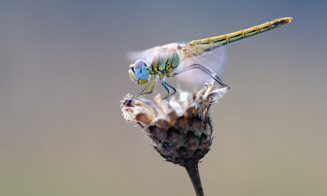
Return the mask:
<path id="1" fill-rule="evenodd" d="M 152 93 L 157 80 L 156 77 L 159 78 L 160 83 L 168 92 L 166 98 L 169 102 L 171 96 L 177 91 L 175 87 L 167 83 L 164 78 L 174 77 L 194 69 L 201 70 L 218 82 L 222 87 L 229 89 L 230 86 L 224 84 L 218 77 L 218 74 L 210 68 L 215 66 L 222 67 L 221 62 L 224 58 L 222 57 L 222 50 L 219 48 L 271 29 L 281 27 L 284 24 L 290 23 L 291 19 L 292 17 L 277 18 L 261 25 L 256 25 L 232 33 L 193 40 L 187 45 L 171 43 L 131 53 L 129 55 L 130 59 L 139 60 L 134 61 L 129 65 L 129 77 L 136 84 L 147 83 L 147 85 L 140 93 L 126 100 L 125 103 L 141 95 Z M 181 67 L 181 69 L 178 69 L 178 67 Z M 197 77 L 196 74 L 193 77 L 189 77 L 188 80 L 197 81 L 199 80 L 199 77 Z"/>

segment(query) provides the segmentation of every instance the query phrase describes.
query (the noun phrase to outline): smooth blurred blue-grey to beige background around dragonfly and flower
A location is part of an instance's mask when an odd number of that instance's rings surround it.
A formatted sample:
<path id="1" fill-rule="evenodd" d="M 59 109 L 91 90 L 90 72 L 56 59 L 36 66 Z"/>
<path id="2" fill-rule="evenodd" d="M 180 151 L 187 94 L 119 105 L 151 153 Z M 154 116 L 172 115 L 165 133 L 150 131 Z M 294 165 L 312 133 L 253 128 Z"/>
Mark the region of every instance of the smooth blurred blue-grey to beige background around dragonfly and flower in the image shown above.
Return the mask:
<path id="1" fill-rule="evenodd" d="M 195 195 L 121 116 L 143 88 L 126 53 L 278 17 L 293 20 L 227 47 L 204 193 L 327 195 L 321 2 L 1 1 L 0 195 Z"/>

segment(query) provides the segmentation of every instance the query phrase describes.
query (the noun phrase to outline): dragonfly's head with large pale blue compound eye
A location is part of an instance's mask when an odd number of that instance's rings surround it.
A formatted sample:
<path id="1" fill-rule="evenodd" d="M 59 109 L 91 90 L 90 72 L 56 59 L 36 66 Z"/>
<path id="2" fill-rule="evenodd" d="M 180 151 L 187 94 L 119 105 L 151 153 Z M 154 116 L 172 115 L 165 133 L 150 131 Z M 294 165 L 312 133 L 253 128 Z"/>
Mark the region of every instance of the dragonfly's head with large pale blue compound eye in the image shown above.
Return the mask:
<path id="1" fill-rule="evenodd" d="M 135 83 L 145 84 L 148 81 L 149 67 L 143 60 L 138 60 L 129 65 L 128 74 Z"/>

